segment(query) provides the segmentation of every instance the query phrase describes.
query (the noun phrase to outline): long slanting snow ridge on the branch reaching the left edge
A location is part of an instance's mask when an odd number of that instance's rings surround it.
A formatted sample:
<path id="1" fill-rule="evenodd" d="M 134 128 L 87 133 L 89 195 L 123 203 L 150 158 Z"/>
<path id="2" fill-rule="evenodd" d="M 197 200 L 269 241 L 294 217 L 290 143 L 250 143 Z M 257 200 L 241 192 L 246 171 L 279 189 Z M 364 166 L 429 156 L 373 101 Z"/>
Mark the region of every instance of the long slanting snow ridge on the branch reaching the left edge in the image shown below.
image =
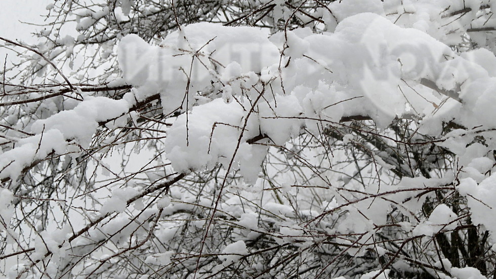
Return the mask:
<path id="1" fill-rule="evenodd" d="M 70 140 L 87 148 L 100 122 L 117 118 L 108 124 L 109 128 L 125 124 L 126 117 L 118 117 L 127 113 L 129 107 L 125 100 L 87 97 L 74 109 L 36 121 L 31 126 L 31 131 L 36 135 L 19 139 L 16 148 L 0 154 L 0 169 L 3 170 L 0 178 L 16 180 L 25 167 L 45 158 L 52 150 L 56 154 L 64 154 L 71 149 Z"/>

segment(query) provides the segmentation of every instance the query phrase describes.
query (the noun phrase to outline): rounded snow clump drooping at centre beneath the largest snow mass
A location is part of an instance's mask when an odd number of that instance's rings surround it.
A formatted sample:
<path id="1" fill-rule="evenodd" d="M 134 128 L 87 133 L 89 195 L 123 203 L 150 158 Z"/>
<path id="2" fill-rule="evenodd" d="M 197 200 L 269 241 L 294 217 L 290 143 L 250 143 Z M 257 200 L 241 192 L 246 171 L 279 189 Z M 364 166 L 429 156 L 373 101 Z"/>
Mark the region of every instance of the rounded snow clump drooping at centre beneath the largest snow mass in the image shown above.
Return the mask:
<path id="1" fill-rule="evenodd" d="M 249 103 L 244 104 L 249 107 Z M 165 150 L 174 170 L 198 170 L 221 163 L 228 167 L 245 121 L 245 111 L 237 102 L 226 104 L 222 99 L 194 107 L 180 115 L 168 131 Z M 249 118 L 235 156 L 235 169 L 247 181 L 257 179 L 267 148 L 246 143 L 259 134 L 257 119 Z"/>

